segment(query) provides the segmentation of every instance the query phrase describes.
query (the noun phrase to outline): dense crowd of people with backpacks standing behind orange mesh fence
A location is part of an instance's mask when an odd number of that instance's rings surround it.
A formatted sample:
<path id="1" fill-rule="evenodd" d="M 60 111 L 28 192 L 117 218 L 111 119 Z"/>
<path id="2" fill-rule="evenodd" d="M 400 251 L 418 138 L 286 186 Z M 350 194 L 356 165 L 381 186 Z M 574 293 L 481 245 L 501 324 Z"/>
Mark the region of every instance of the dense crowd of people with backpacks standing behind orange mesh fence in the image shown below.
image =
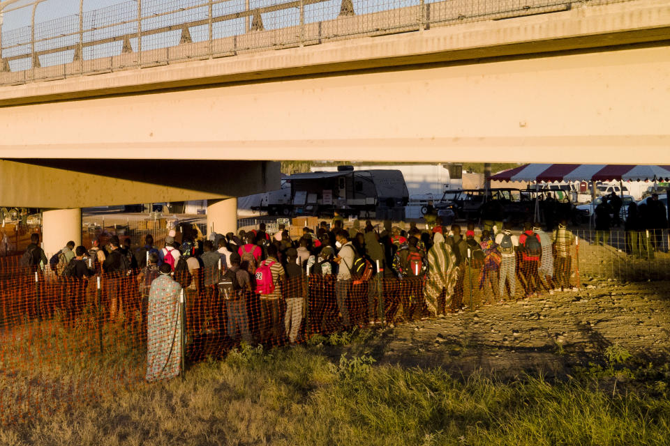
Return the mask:
<path id="1" fill-rule="evenodd" d="M 68 243 L 48 263 L 61 277 L 101 275 L 109 317 L 124 312 L 126 290 L 114 278 L 131 275 L 142 296 L 143 313 L 161 268 L 184 289 L 192 323 L 189 330 L 223 332 L 231 339 L 275 343 L 298 341 L 309 332 L 355 325 L 395 323 L 460 312 L 466 271 L 484 305 L 516 298 L 517 280 L 526 297 L 544 291 L 572 289 L 574 236 L 565 221 L 552 233 L 526 224 L 516 236 L 511 224 L 486 227 L 475 239 L 475 224 L 430 229 L 411 224 L 408 231 L 385 224 L 381 231 L 366 222 L 363 229 L 344 229 L 343 220 L 304 228 L 299 240 L 288 231 L 269 234 L 265 225 L 254 231 L 211 234 L 171 232 L 162 248 L 151 235 L 141 247 L 112 236 L 107 247 L 93 241 L 91 249 Z M 36 235 L 34 235 L 36 236 Z M 27 249 L 29 264 L 47 263 L 38 239 Z M 134 273 L 135 271 L 136 273 Z M 309 279 L 306 277 L 309 275 Z M 308 316 L 308 321 L 306 320 Z M 308 325 L 308 326 L 307 326 Z"/>

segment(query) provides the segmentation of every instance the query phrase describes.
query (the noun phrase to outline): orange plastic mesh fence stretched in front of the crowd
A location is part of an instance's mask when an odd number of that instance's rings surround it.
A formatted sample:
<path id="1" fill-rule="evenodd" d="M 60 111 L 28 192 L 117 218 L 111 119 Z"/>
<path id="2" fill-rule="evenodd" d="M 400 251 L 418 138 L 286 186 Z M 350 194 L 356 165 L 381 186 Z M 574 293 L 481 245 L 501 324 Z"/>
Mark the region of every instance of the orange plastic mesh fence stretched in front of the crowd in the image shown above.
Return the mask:
<path id="1" fill-rule="evenodd" d="M 643 240 L 642 256 L 612 246 L 613 240 L 600 246 L 590 243 L 595 234 L 577 233 L 560 243 L 544 240 L 538 252 L 508 254 L 475 243 L 456 255 L 440 244 L 404 268 L 372 261 L 380 270 L 367 280 L 326 273 L 325 264 L 296 272 L 280 267 L 283 256 L 269 270 L 235 273 L 234 281 L 211 257 L 174 278 L 150 267 L 82 279 L 6 257 L 0 259 L 0 418 L 21 422 L 172 378 L 184 364 L 223 357 L 243 340 L 304 342 L 313 334 L 572 290 L 587 276 L 634 279 L 634 271 L 643 271 L 636 277 L 668 278 L 661 239 L 656 247 Z M 277 280 L 281 270 L 288 276 Z M 262 279 L 267 273 L 270 281 Z M 264 294 L 246 288 L 246 278 Z"/>

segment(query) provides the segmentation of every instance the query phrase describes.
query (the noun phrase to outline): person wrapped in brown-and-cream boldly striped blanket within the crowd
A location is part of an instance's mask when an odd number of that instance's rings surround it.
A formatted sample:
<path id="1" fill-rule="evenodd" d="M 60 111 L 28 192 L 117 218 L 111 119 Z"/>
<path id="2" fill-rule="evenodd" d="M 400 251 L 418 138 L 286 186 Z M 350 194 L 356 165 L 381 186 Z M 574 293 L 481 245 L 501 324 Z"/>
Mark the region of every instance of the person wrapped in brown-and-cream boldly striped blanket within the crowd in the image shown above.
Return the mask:
<path id="1" fill-rule="evenodd" d="M 424 290 L 426 305 L 432 313 L 444 313 L 447 300 L 451 299 L 454 293 L 458 274 L 456 255 L 445 243 L 444 236 L 436 232 L 433 237 L 433 247 L 428 252 L 428 273 Z M 443 296 L 444 302 L 440 302 Z"/>

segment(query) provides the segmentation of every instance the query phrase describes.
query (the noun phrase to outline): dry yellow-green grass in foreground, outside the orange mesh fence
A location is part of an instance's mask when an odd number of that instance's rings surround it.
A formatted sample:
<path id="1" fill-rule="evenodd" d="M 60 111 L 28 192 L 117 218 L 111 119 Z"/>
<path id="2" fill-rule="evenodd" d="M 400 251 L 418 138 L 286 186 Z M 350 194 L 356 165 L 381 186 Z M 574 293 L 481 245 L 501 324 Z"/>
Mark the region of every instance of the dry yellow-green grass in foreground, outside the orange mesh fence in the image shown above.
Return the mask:
<path id="1" fill-rule="evenodd" d="M 456 379 L 366 357 L 334 363 L 323 349 L 247 347 L 196 364 L 184 380 L 135 384 L 5 426 L 0 444 L 670 444 L 668 374 L 612 393 L 600 372 L 567 383 Z"/>

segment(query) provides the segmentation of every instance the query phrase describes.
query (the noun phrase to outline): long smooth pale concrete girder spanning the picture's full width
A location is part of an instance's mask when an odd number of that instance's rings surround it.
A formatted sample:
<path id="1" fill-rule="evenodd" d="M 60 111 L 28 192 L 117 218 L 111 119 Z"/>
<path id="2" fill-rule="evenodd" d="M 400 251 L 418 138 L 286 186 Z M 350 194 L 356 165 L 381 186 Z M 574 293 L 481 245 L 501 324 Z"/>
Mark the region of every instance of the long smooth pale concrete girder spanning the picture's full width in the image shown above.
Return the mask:
<path id="1" fill-rule="evenodd" d="M 20 105 L 0 157 L 670 164 L 669 85 L 657 45 Z"/>

